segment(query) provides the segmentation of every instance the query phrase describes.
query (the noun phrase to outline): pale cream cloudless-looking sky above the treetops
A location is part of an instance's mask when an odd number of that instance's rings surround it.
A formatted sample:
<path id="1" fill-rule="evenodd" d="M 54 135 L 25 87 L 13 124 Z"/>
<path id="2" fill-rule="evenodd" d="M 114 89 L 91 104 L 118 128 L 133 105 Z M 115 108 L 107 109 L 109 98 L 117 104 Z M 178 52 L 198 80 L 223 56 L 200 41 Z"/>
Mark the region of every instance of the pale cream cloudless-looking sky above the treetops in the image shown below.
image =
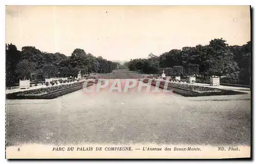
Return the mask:
<path id="1" fill-rule="evenodd" d="M 70 56 L 146 58 L 223 38 L 250 40 L 249 6 L 7 6 L 6 43 Z"/>

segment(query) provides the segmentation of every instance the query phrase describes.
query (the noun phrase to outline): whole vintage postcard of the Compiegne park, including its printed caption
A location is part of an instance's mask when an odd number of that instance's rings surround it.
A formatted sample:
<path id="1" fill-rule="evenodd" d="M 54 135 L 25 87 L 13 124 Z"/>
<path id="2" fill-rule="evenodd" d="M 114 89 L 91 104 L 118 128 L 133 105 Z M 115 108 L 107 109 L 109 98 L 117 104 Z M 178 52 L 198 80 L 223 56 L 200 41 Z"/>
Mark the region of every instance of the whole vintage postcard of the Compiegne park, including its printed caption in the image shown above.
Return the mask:
<path id="1" fill-rule="evenodd" d="M 6 6 L 6 158 L 251 157 L 250 6 Z"/>

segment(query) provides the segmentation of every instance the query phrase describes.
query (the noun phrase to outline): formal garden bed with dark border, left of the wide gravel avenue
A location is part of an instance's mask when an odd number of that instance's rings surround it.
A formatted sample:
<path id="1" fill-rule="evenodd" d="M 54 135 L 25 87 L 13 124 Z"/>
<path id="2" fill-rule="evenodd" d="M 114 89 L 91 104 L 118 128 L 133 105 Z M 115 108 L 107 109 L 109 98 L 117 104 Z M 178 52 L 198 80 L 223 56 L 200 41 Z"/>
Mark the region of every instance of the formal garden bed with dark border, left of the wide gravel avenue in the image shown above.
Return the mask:
<path id="1" fill-rule="evenodd" d="M 6 99 L 54 99 L 56 97 L 66 95 L 67 93 L 82 89 L 84 81 L 55 85 L 50 87 L 31 89 L 25 91 L 19 91 L 9 93 L 6 95 Z M 93 83 L 87 83 L 87 86 L 91 86 Z"/>

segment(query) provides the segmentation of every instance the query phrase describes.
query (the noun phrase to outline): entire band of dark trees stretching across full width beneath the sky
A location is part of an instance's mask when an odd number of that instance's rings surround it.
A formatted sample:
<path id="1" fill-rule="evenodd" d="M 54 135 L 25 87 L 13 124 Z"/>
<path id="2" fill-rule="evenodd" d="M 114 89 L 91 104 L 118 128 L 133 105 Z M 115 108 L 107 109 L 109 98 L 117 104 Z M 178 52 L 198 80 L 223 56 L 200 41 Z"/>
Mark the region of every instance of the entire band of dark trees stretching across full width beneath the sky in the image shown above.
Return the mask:
<path id="1" fill-rule="evenodd" d="M 162 74 L 164 70 L 166 76 L 224 76 L 225 83 L 249 85 L 251 42 L 229 46 L 222 38 L 213 39 L 207 45 L 186 46 L 160 56 L 151 53 L 146 59 L 131 59 L 123 65 L 87 54 L 82 49 L 75 49 L 71 56 L 66 56 L 41 52 L 34 46 L 24 46 L 18 51 L 14 44 L 6 44 L 6 86 L 13 86 L 19 79 L 44 81 L 51 77 L 76 77 L 79 71 L 87 76 L 111 73 L 117 65 L 120 69 L 146 74 Z"/>

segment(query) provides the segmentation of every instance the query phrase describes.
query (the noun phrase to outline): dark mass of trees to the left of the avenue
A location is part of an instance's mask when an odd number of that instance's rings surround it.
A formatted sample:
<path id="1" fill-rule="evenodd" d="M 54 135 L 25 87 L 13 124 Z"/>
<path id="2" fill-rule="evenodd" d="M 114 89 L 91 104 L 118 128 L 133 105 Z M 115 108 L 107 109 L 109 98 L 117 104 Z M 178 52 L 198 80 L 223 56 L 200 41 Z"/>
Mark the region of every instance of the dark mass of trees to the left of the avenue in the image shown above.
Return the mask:
<path id="1" fill-rule="evenodd" d="M 61 53 L 41 52 L 34 46 L 17 50 L 14 44 L 6 44 L 6 86 L 13 86 L 20 80 L 44 81 L 52 77 L 76 77 L 92 73 L 111 73 L 117 62 L 95 57 L 82 49 L 75 49 L 71 56 Z"/>

